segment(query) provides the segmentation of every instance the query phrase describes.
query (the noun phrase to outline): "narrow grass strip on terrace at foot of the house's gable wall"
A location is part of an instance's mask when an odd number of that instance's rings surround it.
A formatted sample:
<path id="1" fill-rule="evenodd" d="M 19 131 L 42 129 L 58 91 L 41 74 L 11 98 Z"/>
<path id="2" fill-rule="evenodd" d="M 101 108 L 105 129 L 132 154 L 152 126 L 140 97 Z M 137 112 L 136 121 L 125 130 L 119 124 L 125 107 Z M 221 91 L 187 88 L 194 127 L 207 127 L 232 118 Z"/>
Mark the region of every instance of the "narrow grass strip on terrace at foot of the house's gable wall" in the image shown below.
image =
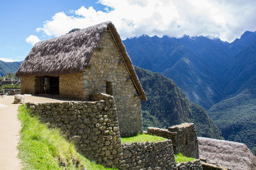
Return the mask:
<path id="1" fill-rule="evenodd" d="M 137 134 L 136 136 L 128 137 L 128 138 L 121 138 L 122 143 L 133 143 L 133 142 L 144 142 L 144 141 L 164 141 L 165 138 L 162 138 L 160 136 L 153 136 L 150 134 Z"/>

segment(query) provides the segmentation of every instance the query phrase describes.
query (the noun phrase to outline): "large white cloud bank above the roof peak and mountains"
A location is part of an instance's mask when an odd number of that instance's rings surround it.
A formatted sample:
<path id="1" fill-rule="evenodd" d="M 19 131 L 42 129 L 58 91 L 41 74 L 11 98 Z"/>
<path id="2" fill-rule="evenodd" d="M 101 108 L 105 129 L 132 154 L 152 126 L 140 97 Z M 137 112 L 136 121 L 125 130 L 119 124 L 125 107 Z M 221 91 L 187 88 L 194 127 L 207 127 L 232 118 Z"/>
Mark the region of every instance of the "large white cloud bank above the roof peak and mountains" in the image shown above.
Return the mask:
<path id="1" fill-rule="evenodd" d="M 60 36 L 74 28 L 111 20 L 122 39 L 142 34 L 172 37 L 188 34 L 233 41 L 246 30 L 256 30 L 254 0 L 99 0 L 98 3 L 106 6 L 106 11 L 82 6 L 71 15 L 56 13 L 36 31 Z"/>

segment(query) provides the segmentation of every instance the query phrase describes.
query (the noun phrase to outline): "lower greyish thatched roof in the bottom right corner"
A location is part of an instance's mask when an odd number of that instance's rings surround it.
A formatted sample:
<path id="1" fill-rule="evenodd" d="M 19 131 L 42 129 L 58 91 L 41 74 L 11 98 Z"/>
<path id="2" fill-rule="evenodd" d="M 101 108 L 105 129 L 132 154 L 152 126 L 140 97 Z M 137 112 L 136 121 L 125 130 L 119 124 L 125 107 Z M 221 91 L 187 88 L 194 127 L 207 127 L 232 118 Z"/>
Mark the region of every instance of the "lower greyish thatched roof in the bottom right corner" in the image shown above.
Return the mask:
<path id="1" fill-rule="evenodd" d="M 256 157 L 243 143 L 198 138 L 200 158 L 228 169 L 256 169 Z"/>

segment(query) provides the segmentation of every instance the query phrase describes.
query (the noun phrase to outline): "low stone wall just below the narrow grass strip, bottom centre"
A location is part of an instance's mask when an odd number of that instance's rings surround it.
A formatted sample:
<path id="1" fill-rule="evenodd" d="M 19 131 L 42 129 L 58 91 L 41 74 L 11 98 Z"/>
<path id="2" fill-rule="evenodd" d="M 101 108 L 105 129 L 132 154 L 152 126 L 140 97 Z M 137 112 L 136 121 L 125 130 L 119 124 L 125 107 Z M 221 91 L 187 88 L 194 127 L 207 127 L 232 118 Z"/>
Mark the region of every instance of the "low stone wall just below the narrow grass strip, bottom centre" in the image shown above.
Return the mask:
<path id="1" fill-rule="evenodd" d="M 125 143 L 120 169 L 175 169 L 172 141 Z"/>

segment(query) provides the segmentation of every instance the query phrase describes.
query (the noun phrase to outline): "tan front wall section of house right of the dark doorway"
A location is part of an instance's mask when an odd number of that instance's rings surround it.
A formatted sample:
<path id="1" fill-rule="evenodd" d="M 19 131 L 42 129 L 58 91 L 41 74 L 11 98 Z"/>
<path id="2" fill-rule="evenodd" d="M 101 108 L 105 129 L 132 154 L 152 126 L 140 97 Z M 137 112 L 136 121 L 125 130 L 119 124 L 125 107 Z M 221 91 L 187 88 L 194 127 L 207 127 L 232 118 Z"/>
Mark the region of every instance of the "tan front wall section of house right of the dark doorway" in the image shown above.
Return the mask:
<path id="1" fill-rule="evenodd" d="M 60 96 L 83 99 L 83 72 L 60 75 Z"/>

